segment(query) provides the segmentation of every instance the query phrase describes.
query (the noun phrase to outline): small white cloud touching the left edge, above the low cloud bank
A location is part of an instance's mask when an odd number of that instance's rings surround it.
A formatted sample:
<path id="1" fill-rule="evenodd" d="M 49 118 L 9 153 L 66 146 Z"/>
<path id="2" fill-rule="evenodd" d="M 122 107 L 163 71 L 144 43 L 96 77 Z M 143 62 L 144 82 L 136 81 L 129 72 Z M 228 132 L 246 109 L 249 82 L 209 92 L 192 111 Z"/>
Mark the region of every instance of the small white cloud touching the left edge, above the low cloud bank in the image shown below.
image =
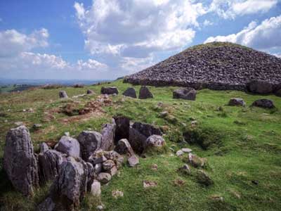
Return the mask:
<path id="1" fill-rule="evenodd" d="M 16 30 L 0 32 L 0 57 L 13 56 L 22 51 L 48 46 L 48 30 L 34 30 L 31 34 L 22 34 Z"/>

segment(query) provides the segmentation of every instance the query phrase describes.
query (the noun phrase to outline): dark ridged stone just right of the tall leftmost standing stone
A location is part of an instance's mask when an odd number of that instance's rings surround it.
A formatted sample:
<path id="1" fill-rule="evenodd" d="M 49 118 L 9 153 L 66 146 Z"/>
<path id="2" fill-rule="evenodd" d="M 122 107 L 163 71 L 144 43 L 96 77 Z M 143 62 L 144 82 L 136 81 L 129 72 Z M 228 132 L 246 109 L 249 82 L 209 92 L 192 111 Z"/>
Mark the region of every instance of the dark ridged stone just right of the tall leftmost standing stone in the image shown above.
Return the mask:
<path id="1" fill-rule="evenodd" d="M 60 165 L 64 160 L 66 160 L 65 154 L 55 150 L 47 150 L 43 153 L 39 153 L 40 182 L 45 184 L 47 181 L 55 179 L 60 171 Z"/>

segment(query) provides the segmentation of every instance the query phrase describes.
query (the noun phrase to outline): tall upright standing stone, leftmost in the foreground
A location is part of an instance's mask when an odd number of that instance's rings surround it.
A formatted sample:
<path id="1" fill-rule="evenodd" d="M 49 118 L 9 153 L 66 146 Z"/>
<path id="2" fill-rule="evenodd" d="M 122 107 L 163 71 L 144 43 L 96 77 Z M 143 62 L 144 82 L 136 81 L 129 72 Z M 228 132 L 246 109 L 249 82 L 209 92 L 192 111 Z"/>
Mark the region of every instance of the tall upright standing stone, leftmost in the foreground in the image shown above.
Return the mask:
<path id="1" fill-rule="evenodd" d="M 37 159 L 30 132 L 25 126 L 10 129 L 4 148 L 4 169 L 14 188 L 25 196 L 32 195 L 39 185 Z"/>

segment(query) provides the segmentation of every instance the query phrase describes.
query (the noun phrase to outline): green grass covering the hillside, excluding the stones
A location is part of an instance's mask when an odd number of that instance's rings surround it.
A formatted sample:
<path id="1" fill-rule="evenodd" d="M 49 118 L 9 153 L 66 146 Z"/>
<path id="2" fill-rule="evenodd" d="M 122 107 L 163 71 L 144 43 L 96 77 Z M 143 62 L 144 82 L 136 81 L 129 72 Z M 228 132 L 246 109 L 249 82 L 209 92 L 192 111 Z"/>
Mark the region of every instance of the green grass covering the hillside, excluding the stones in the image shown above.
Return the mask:
<path id="1" fill-rule="evenodd" d="M 110 97 L 112 106 L 103 108 L 104 113 L 100 115 L 79 120 L 74 120 L 75 116 L 69 117 L 54 111 L 72 101 L 79 101 L 82 106 L 95 100 L 101 85 L 67 87 L 65 90 L 70 97 L 84 94 L 87 89 L 96 92 L 93 96 L 68 100 L 58 99 L 60 89 L 1 94 L 0 158 L 3 158 L 6 132 L 15 127 L 14 122 L 25 122 L 30 128 L 34 123 L 43 124 L 42 129 L 31 130 L 34 148 L 38 149 L 38 143 L 58 141 L 64 132 L 77 136 L 84 129 L 100 131 L 103 123 L 109 122 L 113 115 L 126 115 L 133 121 L 162 127 L 168 147 L 176 150 L 192 148 L 194 153 L 207 158 L 204 170 L 214 184 L 208 187 L 199 184 L 196 179 L 197 169 L 193 167 L 191 175 L 178 172 L 184 163 L 171 151 L 162 155 L 149 155 L 140 158 L 141 164 L 136 168 L 124 165 L 119 176 L 113 177 L 110 184 L 102 187 L 101 199 L 106 210 L 280 210 L 281 98 L 250 95 L 241 91 L 203 89 L 198 91 L 196 101 L 184 101 L 172 98 L 172 91 L 176 87 L 150 87 L 155 98 L 125 98 L 123 101 L 122 92 L 131 85 L 119 80 L 110 86 L 117 86 L 120 93 L 119 96 Z M 140 89 L 139 86 L 133 87 L 136 91 Z M 233 97 L 243 98 L 247 106 L 226 106 Z M 250 107 L 256 99 L 265 97 L 273 100 L 277 109 Z M 163 106 L 158 106 L 159 102 Z M 27 108 L 33 108 L 34 112 L 22 112 Z M 162 111 L 168 111 L 168 117 L 159 117 Z M 48 114 L 53 119 L 48 120 Z M 190 131 L 194 119 L 197 126 L 192 131 L 196 141 L 190 145 L 184 141 L 183 132 Z M 208 146 L 202 148 L 200 140 L 207 141 Z M 151 170 L 152 164 L 158 165 L 157 171 Z M 184 184 L 176 186 L 176 179 L 181 179 Z M 157 187 L 144 189 L 143 180 L 157 181 Z M 252 181 L 259 181 L 259 184 Z M 11 211 L 33 210 L 44 198 L 48 188 L 39 188 L 34 198 L 21 196 L 13 190 L 1 164 L 0 190 L 0 210 Z M 114 190 L 123 191 L 124 197 L 113 198 Z M 214 196 L 223 197 L 223 201 L 214 200 Z M 81 210 L 93 209 L 94 203 L 87 196 L 81 203 Z"/>

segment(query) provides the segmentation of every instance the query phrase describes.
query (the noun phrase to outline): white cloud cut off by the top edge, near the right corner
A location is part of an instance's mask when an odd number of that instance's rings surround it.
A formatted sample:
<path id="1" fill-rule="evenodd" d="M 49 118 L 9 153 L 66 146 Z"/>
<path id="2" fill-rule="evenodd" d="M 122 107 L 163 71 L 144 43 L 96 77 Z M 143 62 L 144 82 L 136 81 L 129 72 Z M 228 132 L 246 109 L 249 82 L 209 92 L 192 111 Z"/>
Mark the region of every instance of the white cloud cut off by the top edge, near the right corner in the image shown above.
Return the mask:
<path id="1" fill-rule="evenodd" d="M 234 19 L 237 15 L 266 13 L 278 0 L 213 0 L 209 11 L 218 13 L 222 18 Z"/>

